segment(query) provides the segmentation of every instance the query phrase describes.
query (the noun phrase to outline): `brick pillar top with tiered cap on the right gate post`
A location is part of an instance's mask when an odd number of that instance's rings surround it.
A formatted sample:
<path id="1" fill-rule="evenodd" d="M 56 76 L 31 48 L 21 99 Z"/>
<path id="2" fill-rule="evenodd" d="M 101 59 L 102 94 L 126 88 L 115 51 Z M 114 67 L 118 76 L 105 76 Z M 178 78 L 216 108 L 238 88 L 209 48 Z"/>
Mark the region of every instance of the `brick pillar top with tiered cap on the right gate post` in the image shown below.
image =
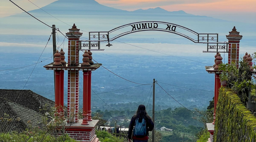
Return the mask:
<path id="1" fill-rule="evenodd" d="M 242 35 L 239 35 L 240 32 L 236 31 L 236 27 L 232 29 L 231 32 L 229 32 L 228 35 L 226 35 L 226 38 L 228 39 L 228 64 L 231 64 L 231 62 L 236 62 L 238 67 L 238 61 L 239 61 L 239 43 L 242 39 Z"/>

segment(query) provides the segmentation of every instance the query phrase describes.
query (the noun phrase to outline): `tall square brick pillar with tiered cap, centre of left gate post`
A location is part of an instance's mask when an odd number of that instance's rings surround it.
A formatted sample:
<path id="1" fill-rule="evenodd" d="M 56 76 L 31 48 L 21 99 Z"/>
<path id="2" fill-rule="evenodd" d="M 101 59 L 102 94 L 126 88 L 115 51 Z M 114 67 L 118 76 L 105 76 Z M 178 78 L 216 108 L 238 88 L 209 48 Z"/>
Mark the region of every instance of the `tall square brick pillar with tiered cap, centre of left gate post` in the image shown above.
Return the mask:
<path id="1" fill-rule="evenodd" d="M 68 66 L 79 65 L 79 38 L 83 33 L 79 32 L 74 24 L 69 32 L 68 37 Z M 71 122 L 78 122 L 79 107 L 79 71 L 68 70 L 68 116 Z"/>

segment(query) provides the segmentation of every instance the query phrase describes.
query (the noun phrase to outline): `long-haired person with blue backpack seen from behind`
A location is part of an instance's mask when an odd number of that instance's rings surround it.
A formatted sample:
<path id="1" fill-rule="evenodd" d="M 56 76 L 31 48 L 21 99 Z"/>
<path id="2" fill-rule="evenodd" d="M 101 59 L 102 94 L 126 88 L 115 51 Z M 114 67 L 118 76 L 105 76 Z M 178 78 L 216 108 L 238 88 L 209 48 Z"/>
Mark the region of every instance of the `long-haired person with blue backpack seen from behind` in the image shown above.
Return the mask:
<path id="1" fill-rule="evenodd" d="M 135 127 L 134 127 L 135 126 Z M 131 142 L 148 142 L 148 131 L 152 131 L 154 123 L 146 111 L 144 105 L 139 105 L 138 110 L 131 118 L 128 131 L 128 140 Z"/>

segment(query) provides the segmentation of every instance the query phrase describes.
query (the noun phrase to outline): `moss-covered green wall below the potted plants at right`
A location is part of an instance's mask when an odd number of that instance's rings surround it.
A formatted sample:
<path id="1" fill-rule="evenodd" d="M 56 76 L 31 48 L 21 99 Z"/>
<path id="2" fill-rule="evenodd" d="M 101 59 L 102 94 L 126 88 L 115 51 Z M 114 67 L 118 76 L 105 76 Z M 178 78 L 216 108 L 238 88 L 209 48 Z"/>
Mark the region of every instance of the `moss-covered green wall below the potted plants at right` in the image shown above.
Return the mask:
<path id="1" fill-rule="evenodd" d="M 256 117 L 230 88 L 220 88 L 214 127 L 214 142 L 256 141 Z"/>

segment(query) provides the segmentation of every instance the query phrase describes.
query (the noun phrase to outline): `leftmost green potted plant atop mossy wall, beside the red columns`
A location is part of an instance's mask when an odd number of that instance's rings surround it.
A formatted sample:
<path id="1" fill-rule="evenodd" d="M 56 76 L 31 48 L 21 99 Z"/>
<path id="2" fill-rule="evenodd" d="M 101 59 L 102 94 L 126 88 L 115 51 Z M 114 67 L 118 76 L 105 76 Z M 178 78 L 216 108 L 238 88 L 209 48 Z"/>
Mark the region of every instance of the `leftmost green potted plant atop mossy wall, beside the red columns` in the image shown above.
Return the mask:
<path id="1" fill-rule="evenodd" d="M 220 74 L 220 84 L 222 86 L 227 86 L 228 84 L 228 68 L 229 68 L 229 64 L 219 64 L 219 68 L 218 71 L 222 71 L 222 73 Z"/>

